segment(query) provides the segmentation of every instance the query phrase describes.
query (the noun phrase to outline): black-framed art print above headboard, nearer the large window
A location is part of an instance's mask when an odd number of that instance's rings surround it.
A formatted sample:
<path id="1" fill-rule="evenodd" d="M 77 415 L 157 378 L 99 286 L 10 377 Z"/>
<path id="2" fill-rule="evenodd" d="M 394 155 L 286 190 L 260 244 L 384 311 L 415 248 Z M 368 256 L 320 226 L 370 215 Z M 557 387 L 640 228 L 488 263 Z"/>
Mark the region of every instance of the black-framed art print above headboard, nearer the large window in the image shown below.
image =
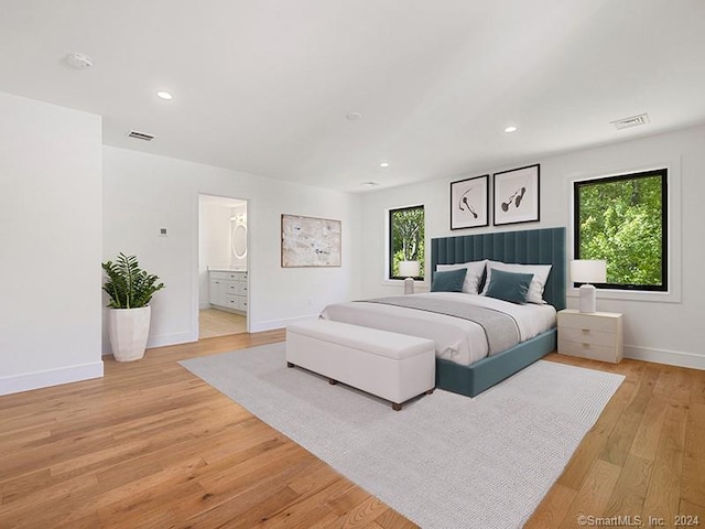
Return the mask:
<path id="1" fill-rule="evenodd" d="M 540 165 L 495 173 L 495 226 L 539 220 Z"/>

